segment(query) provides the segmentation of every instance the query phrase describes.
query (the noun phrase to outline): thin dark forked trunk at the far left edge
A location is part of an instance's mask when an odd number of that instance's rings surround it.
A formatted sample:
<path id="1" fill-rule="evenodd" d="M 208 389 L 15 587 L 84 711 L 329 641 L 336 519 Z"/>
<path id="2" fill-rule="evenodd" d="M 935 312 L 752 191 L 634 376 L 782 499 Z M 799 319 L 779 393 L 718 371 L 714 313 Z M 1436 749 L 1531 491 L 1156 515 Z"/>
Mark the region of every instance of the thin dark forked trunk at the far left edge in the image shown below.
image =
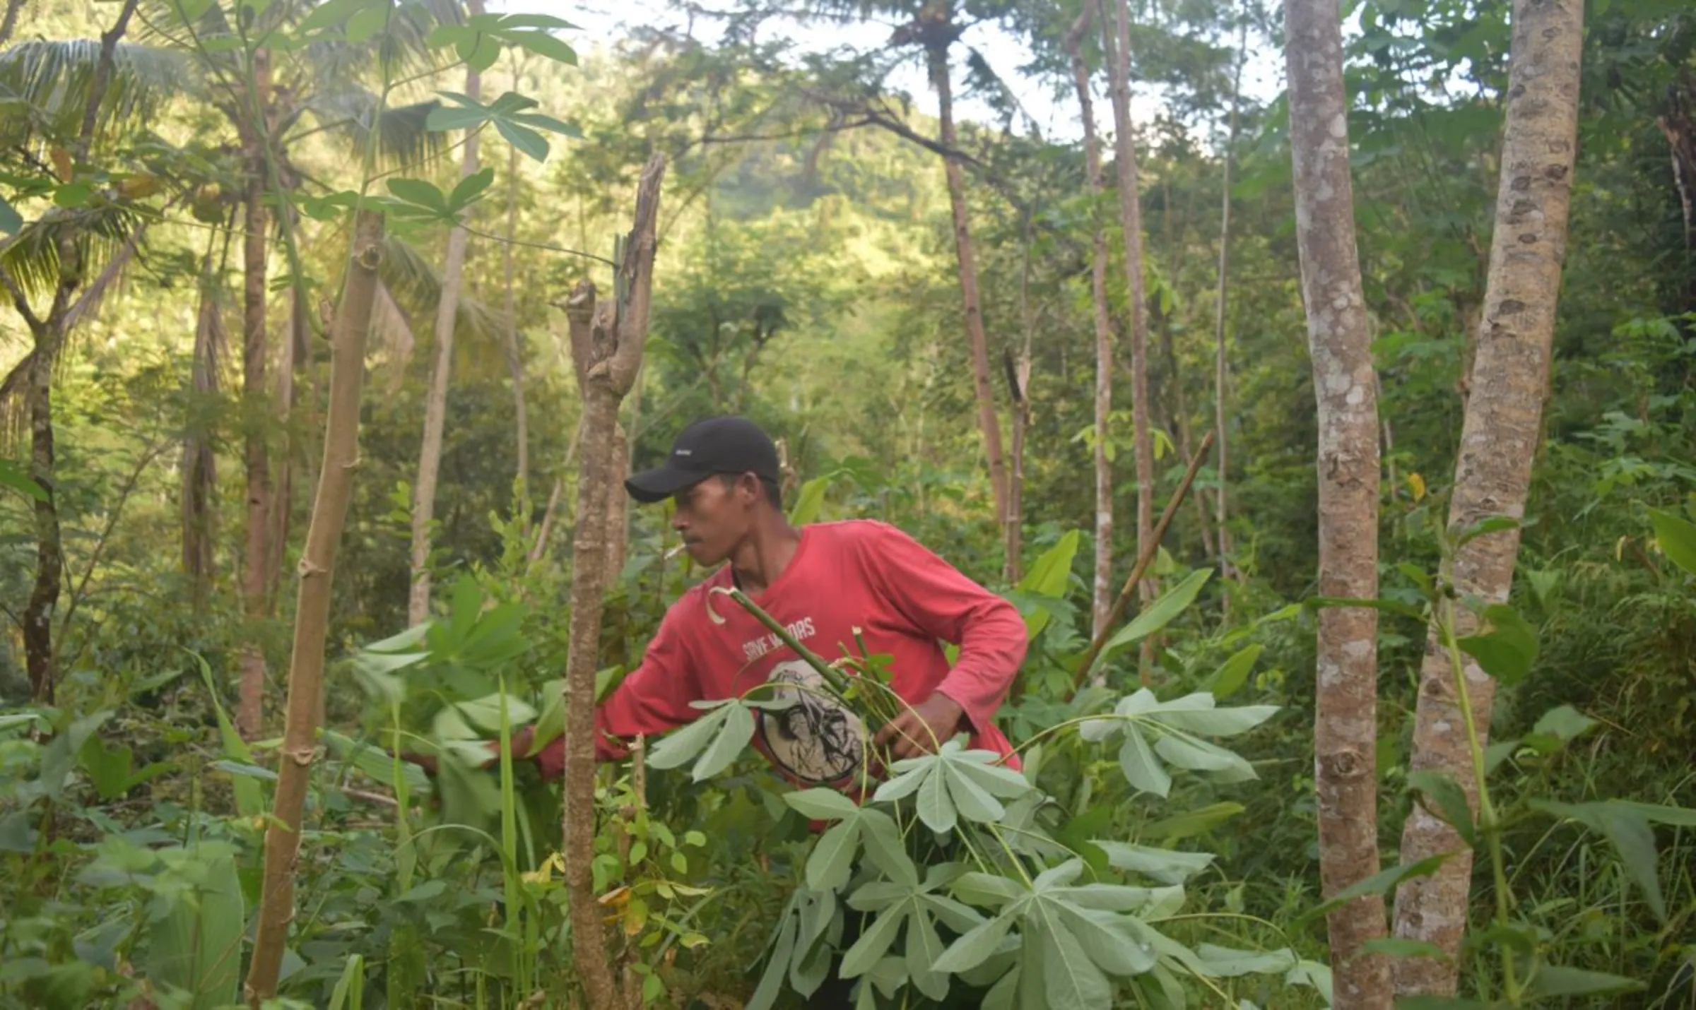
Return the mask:
<path id="1" fill-rule="evenodd" d="M 129 31 L 129 19 L 136 14 L 137 0 L 126 0 L 112 27 L 100 36 L 100 58 L 95 63 L 93 80 L 88 83 L 88 103 L 83 107 L 81 125 L 71 151 L 73 166 L 85 166 L 88 147 L 93 142 L 95 124 L 100 115 L 100 100 L 105 97 L 112 80 L 112 54 L 117 41 Z M 53 373 L 64 342 L 70 337 L 80 302 L 71 297 L 83 286 L 81 249 L 78 247 L 76 229 L 59 230 L 59 280 L 53 290 L 53 303 L 46 319 L 31 310 L 29 298 L 15 283 L 12 275 L 0 269 L 7 293 L 12 295 L 14 307 L 24 317 L 32 337 L 29 356 L 29 373 L 25 376 L 25 410 L 29 412 L 29 478 L 44 491 L 34 503 L 36 519 L 36 581 L 31 586 L 29 602 L 24 607 L 24 666 L 29 671 L 31 698 L 37 703 L 53 703 L 58 683 L 53 613 L 59 607 L 59 591 L 64 580 L 64 544 L 59 532 L 59 508 L 54 478 L 54 434 L 53 434 Z"/>

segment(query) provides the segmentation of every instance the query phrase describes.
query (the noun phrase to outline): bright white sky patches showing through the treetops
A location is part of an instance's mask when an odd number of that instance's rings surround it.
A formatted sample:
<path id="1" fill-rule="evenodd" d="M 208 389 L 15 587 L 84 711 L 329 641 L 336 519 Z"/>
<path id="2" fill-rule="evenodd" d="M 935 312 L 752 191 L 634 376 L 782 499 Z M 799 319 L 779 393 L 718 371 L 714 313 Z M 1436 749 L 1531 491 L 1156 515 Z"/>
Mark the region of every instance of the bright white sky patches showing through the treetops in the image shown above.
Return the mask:
<path id="1" fill-rule="evenodd" d="M 729 5 L 729 0 L 726 0 L 726 7 Z M 522 10 L 529 14 L 546 12 L 555 17 L 561 17 L 575 25 L 580 25 L 580 32 L 561 32 L 561 36 L 585 53 L 592 51 L 597 44 L 616 44 L 629 34 L 628 25 L 633 24 L 682 27 L 687 20 L 687 15 L 673 10 L 667 0 L 497 0 L 490 3 L 490 10 Z M 804 49 L 826 51 L 836 46 L 850 46 L 855 49 L 879 47 L 889 37 L 890 27 L 885 24 L 814 27 L 797 22 L 773 22 L 765 31 L 770 32 L 770 37 L 773 39 L 789 37 Z M 714 25 L 697 20 L 695 34 L 702 41 L 712 41 Z M 1077 100 L 1072 97 L 1070 88 L 1067 88 L 1063 95 L 1057 95 L 1048 81 L 1036 81 L 1014 73 L 1019 66 L 1029 63 L 1031 59 L 1029 49 L 1019 37 L 1001 31 L 996 25 L 979 24 L 967 29 L 962 37 L 962 44 L 982 53 L 984 59 L 987 59 L 989 64 L 1009 81 L 1019 103 L 1031 115 L 1031 119 L 1036 120 L 1045 137 L 1053 141 L 1077 141 L 1082 137 L 1084 129 L 1077 115 Z M 890 78 L 890 85 L 906 90 L 921 114 L 936 115 L 936 95 L 929 90 L 923 68 L 918 61 L 904 64 Z M 1269 102 L 1282 90 L 1282 54 L 1270 47 L 1252 51 L 1248 63 L 1243 66 L 1243 93 L 1257 98 L 1258 102 Z M 1104 92 L 1101 85 L 1097 85 L 1097 90 Z M 1133 85 L 1133 119 L 1138 122 L 1148 122 L 1157 110 L 1153 102 L 1155 100 L 1150 95 L 1136 95 Z M 1097 114 L 1097 117 L 1099 115 L 1101 114 Z M 955 117 L 962 120 L 975 119 L 979 122 L 996 120 L 987 105 L 970 97 L 963 97 L 955 102 Z M 1104 130 L 1111 132 L 1111 125 L 1109 115 L 1106 117 Z"/>

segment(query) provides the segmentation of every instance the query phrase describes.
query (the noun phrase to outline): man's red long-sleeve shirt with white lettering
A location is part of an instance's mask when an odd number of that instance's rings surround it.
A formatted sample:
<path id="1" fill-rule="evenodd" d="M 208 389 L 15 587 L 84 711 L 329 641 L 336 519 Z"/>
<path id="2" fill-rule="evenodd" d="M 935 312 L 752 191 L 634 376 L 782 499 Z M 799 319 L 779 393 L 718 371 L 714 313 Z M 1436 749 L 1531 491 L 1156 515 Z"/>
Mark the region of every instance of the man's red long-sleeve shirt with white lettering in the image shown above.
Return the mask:
<path id="1" fill-rule="evenodd" d="M 699 717 L 690 702 L 738 696 L 767 680 L 817 683 L 819 674 L 751 613 L 709 591 L 729 585 L 726 566 L 683 593 L 641 666 L 595 710 L 602 761 L 624 756 L 621 739 Z M 858 654 L 858 627 L 868 652 L 892 656 L 890 686 L 902 700 L 918 705 L 941 691 L 965 713 L 972 747 L 1011 754 L 992 717 L 1024 661 L 1024 620 L 902 530 L 877 520 L 806 525 L 789 566 L 753 602 L 826 661 L 845 649 Z M 953 668 L 941 642 L 960 647 Z M 755 747 L 795 785 L 846 791 L 867 742 L 860 719 L 817 691 L 789 695 L 799 702 L 758 712 Z M 548 744 L 538 756 L 543 773 L 556 776 L 563 754 L 563 739 Z M 1016 758 L 1009 763 L 1018 768 Z"/>

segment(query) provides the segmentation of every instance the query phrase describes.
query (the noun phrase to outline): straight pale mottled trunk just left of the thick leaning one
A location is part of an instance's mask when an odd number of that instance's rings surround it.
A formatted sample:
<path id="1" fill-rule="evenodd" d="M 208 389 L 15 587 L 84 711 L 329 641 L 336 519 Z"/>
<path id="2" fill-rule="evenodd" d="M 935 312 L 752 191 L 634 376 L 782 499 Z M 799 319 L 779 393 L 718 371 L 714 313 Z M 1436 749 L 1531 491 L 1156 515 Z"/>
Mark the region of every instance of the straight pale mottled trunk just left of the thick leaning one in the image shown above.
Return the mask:
<path id="1" fill-rule="evenodd" d="M 1377 395 L 1348 176 L 1348 98 L 1336 0 L 1284 0 L 1296 247 L 1319 419 L 1319 595 L 1377 597 Z M 1314 788 L 1325 896 L 1372 876 L 1377 851 L 1377 610 L 1319 610 Z M 1326 918 L 1340 1007 L 1389 1010 L 1384 898 Z"/>

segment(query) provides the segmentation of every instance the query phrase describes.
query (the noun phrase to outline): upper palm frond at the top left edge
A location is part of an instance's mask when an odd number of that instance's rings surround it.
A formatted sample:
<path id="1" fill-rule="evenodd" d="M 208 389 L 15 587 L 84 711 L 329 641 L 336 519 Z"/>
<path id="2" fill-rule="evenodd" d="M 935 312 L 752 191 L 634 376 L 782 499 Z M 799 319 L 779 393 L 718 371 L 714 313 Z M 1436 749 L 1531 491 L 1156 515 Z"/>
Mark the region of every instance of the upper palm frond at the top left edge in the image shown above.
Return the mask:
<path id="1" fill-rule="evenodd" d="M 98 39 L 31 39 L 0 53 L 0 146 L 76 136 L 98 63 Z M 95 141 L 144 130 L 166 102 L 197 88 L 181 53 L 119 42 Z"/>

